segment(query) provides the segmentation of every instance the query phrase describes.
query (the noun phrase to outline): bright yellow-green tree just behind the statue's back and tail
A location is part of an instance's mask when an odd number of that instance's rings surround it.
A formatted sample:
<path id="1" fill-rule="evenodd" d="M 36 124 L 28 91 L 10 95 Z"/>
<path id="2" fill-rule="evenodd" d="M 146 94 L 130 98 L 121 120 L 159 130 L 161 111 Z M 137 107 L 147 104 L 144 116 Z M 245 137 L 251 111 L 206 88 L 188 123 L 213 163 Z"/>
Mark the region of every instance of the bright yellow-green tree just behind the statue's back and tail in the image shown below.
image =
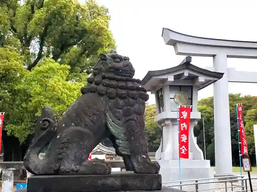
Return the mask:
<path id="1" fill-rule="evenodd" d="M 35 115 L 40 115 L 43 106 L 50 105 L 59 117 L 80 95 L 83 83 L 67 81 L 70 67 L 60 65 L 52 59 L 40 62 L 31 72 L 26 71 L 24 78 L 15 91 L 19 95 L 11 95 L 15 101 L 4 98 L 7 118 L 5 129 L 20 141 L 33 133 L 32 125 Z"/>

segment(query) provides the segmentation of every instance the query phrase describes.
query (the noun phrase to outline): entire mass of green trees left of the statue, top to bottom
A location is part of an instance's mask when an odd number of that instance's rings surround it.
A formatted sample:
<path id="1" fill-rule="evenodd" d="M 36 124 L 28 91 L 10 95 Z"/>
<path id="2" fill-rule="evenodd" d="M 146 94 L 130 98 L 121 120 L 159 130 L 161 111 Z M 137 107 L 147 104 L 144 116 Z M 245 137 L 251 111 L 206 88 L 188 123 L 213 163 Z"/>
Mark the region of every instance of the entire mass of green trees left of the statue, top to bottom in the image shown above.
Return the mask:
<path id="1" fill-rule="evenodd" d="M 115 48 L 109 19 L 108 10 L 94 1 L 1 1 L 0 54 L 5 57 L 0 58 L 0 76 L 5 79 L 0 82 L 0 109 L 6 112 L 4 129 L 9 135 L 23 141 L 42 105 L 52 105 L 60 115 L 74 101 L 80 90 L 76 82 L 85 84 L 98 54 Z M 59 74 L 51 76 L 53 71 Z M 51 77 L 44 81 L 37 76 Z"/>

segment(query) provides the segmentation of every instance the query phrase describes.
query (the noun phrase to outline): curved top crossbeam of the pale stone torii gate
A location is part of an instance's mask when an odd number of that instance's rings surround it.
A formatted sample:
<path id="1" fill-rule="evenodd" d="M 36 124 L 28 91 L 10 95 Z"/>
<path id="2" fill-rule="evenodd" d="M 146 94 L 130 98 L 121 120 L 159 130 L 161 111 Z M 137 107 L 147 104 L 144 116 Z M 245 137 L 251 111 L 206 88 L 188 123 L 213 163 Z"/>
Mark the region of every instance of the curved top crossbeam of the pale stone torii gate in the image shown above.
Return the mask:
<path id="1" fill-rule="evenodd" d="M 253 41 L 197 37 L 167 28 L 162 29 L 162 37 L 166 45 L 174 46 L 177 55 L 210 57 L 223 52 L 228 58 L 257 58 L 257 42 Z"/>

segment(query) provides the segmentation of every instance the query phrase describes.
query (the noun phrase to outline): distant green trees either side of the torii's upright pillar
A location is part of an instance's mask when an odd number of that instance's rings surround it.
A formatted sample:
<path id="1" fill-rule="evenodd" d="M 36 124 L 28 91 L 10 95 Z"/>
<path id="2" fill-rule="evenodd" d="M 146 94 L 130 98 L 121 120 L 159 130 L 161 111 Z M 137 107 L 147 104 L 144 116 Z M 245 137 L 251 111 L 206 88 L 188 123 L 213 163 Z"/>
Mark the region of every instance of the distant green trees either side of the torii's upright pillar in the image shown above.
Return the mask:
<path id="1" fill-rule="evenodd" d="M 241 96 L 241 94 L 229 94 L 230 106 L 230 131 L 231 131 L 231 150 L 232 150 L 232 163 L 239 165 L 239 152 L 238 152 L 238 132 L 237 132 L 237 116 L 236 104 L 243 104 L 244 124 L 246 129 L 246 136 L 248 142 L 248 151 L 251 161 L 255 164 L 255 148 L 253 138 L 253 124 L 257 123 L 257 110 L 256 110 L 255 96 Z M 206 138 L 206 156 L 215 164 L 215 149 L 214 149 L 214 114 L 213 114 L 213 97 L 201 99 L 198 102 L 198 111 L 201 117 L 204 117 L 205 122 L 205 138 Z M 204 132 L 203 132 L 203 119 L 198 121 L 194 128 L 194 134 L 197 137 L 197 143 L 201 150 L 204 152 Z"/>

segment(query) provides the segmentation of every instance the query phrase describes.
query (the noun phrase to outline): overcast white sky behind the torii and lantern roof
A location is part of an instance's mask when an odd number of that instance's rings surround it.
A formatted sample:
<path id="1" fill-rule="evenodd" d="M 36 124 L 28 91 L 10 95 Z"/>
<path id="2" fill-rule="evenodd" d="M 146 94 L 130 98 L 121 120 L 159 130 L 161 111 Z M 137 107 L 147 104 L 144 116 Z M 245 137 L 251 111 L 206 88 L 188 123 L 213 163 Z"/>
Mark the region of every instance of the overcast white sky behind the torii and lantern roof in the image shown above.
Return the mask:
<path id="1" fill-rule="evenodd" d="M 80 2 L 84 2 L 81 0 Z M 109 9 L 110 28 L 117 51 L 130 57 L 136 78 L 149 70 L 177 66 L 185 56 L 164 44 L 162 28 L 184 34 L 232 40 L 257 41 L 255 0 L 97 0 Z M 192 57 L 198 67 L 212 66 L 211 57 Z M 228 67 L 256 71 L 256 59 L 228 59 Z M 257 96 L 257 84 L 229 83 L 230 93 Z M 213 86 L 199 91 L 198 99 L 213 96 Z M 155 103 L 150 96 L 150 103 Z"/>

